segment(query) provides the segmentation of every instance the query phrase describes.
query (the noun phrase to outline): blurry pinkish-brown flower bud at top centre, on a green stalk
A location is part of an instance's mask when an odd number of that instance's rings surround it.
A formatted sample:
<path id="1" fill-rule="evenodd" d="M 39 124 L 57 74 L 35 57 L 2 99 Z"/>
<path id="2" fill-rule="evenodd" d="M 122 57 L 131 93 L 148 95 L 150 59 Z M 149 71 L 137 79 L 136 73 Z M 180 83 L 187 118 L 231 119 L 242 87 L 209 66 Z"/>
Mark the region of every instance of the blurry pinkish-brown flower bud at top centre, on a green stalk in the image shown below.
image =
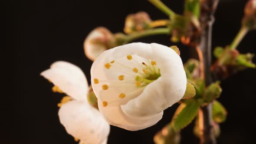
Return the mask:
<path id="1" fill-rule="evenodd" d="M 125 33 L 131 33 L 134 31 L 141 31 L 149 28 L 151 22 L 150 16 L 146 12 L 138 12 L 135 14 L 129 14 L 125 18 Z"/>

